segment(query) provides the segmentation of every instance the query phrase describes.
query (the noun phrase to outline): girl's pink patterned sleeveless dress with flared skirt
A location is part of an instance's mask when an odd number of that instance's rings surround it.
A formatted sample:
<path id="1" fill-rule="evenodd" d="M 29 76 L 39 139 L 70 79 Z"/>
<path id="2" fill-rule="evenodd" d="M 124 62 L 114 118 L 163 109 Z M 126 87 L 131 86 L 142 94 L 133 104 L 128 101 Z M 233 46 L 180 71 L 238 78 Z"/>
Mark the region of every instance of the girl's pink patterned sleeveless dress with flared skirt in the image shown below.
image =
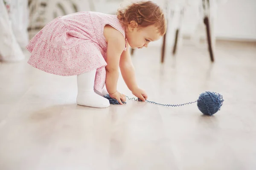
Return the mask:
<path id="1" fill-rule="evenodd" d="M 102 92 L 108 47 L 103 30 L 107 24 L 125 37 L 125 29 L 116 15 L 84 11 L 57 17 L 26 46 L 31 52 L 28 63 L 61 76 L 79 75 L 97 69 L 94 88 Z"/>

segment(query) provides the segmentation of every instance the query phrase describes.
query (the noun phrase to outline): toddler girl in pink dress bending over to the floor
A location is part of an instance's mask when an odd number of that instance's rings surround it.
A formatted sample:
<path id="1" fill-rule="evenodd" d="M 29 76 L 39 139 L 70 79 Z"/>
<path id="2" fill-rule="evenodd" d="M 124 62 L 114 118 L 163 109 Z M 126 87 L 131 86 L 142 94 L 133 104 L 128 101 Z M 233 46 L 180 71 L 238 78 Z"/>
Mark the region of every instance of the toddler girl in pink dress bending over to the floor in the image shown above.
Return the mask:
<path id="1" fill-rule="evenodd" d="M 78 12 L 55 18 L 30 40 L 28 63 L 50 74 L 77 75 L 78 105 L 106 108 L 106 93 L 122 105 L 126 97 L 116 89 L 119 68 L 132 94 L 145 101 L 129 48 L 147 47 L 165 33 L 163 12 L 151 1 L 132 3 L 117 15 Z"/>

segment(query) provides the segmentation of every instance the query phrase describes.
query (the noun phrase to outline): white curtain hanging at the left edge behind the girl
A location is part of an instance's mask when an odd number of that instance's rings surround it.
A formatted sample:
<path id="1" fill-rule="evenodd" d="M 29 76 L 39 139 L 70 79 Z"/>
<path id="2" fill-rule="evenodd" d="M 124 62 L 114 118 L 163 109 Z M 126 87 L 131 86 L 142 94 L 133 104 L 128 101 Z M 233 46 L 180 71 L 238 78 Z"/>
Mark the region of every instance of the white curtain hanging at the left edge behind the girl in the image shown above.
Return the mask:
<path id="1" fill-rule="evenodd" d="M 24 59 L 21 47 L 28 42 L 26 6 L 26 0 L 0 0 L 0 60 Z"/>

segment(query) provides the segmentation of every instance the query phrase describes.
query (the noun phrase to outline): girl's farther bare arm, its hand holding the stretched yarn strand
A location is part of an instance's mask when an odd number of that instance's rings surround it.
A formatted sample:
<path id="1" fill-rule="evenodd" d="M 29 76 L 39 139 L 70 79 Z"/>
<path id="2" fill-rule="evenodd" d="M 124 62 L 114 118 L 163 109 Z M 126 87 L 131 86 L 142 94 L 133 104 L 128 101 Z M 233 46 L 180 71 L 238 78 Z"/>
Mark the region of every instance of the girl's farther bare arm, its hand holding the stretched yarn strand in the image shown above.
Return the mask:
<path id="1" fill-rule="evenodd" d="M 135 69 L 134 69 L 134 65 L 131 62 L 129 48 L 130 48 L 130 45 L 127 43 L 126 51 L 123 51 L 120 58 L 119 66 L 120 66 L 121 74 L 125 81 L 125 84 L 130 89 L 130 91 L 132 91 L 132 93 L 135 96 L 145 101 L 148 98 L 148 95 L 145 93 L 145 91 L 140 89 L 137 85 L 136 77 L 135 77 Z"/>

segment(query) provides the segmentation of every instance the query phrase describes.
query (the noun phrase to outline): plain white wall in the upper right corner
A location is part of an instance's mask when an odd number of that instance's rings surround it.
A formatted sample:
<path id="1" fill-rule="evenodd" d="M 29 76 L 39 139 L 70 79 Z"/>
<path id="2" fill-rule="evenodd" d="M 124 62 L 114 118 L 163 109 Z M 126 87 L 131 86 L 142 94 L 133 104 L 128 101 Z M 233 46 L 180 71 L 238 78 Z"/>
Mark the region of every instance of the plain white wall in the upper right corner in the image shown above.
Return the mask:
<path id="1" fill-rule="evenodd" d="M 256 0 L 227 0 L 217 14 L 218 38 L 256 41 Z"/>

